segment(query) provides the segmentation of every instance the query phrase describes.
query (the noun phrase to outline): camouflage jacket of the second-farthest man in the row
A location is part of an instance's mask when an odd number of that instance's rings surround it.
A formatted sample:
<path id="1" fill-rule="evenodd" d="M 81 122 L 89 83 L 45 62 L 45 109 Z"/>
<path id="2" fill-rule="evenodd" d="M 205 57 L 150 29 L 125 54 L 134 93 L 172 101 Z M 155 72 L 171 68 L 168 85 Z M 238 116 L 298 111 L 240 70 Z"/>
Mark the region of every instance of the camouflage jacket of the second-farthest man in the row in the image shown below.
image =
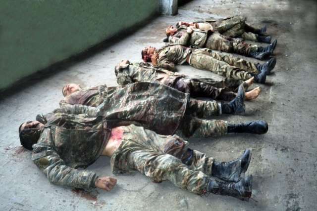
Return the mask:
<path id="1" fill-rule="evenodd" d="M 193 33 L 186 32 L 186 26 L 180 26 L 173 36 L 169 36 L 168 42 L 190 47 L 204 47 L 211 31 L 193 29 Z"/>

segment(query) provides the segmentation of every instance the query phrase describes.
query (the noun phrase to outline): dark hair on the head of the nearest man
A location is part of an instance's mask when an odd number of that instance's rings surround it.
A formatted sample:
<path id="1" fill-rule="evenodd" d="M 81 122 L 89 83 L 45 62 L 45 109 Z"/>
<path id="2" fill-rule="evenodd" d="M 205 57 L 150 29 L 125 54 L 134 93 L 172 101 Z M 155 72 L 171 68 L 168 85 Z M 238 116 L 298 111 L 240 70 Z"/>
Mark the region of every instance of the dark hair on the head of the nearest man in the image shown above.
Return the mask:
<path id="1" fill-rule="evenodd" d="M 30 123 L 30 122 L 27 122 Z M 37 143 L 41 132 L 39 128 L 23 128 L 21 130 L 21 127 L 24 123 L 22 123 L 19 127 L 19 137 L 20 137 L 20 143 L 21 145 L 28 149 L 33 150 L 32 145 Z"/>

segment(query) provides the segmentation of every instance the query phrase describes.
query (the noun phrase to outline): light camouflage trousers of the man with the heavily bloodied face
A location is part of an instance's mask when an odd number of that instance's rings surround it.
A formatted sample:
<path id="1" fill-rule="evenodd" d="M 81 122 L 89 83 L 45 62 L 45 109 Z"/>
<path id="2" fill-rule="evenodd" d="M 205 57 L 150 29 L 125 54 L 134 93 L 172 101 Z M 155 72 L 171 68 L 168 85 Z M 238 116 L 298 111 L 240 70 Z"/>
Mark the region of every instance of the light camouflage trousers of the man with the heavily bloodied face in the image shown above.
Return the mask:
<path id="1" fill-rule="evenodd" d="M 228 54 L 211 51 L 208 48 L 192 52 L 190 65 L 201 70 L 209 70 L 231 79 L 248 80 L 259 70 L 252 62 Z"/>

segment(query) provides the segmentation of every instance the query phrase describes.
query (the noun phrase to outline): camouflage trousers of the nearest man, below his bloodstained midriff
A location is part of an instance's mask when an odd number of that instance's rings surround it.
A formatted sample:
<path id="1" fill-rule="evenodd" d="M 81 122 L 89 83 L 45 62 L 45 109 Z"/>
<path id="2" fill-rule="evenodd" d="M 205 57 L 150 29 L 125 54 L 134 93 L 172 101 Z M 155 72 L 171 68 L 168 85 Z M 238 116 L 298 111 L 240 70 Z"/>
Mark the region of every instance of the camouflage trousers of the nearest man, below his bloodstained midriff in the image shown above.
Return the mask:
<path id="1" fill-rule="evenodd" d="M 189 149 L 177 135 L 159 135 L 135 125 L 121 128 L 122 142 L 111 156 L 113 173 L 137 170 L 154 182 L 168 180 L 195 194 L 206 193 L 213 158 Z"/>

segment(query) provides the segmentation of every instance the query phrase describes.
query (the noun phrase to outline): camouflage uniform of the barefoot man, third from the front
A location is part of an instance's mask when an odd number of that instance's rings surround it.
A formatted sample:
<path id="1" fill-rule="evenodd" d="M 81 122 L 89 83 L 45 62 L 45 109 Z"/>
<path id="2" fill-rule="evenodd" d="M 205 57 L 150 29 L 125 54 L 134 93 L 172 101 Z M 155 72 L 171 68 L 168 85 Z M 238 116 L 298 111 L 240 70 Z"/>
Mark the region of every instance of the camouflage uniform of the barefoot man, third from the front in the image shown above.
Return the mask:
<path id="1" fill-rule="evenodd" d="M 210 97 L 214 100 L 232 100 L 241 80 L 215 80 L 212 78 L 191 78 L 149 63 L 133 63 L 115 67 L 117 83 L 120 85 L 134 82 L 159 82 L 189 93 L 191 97 Z"/>

